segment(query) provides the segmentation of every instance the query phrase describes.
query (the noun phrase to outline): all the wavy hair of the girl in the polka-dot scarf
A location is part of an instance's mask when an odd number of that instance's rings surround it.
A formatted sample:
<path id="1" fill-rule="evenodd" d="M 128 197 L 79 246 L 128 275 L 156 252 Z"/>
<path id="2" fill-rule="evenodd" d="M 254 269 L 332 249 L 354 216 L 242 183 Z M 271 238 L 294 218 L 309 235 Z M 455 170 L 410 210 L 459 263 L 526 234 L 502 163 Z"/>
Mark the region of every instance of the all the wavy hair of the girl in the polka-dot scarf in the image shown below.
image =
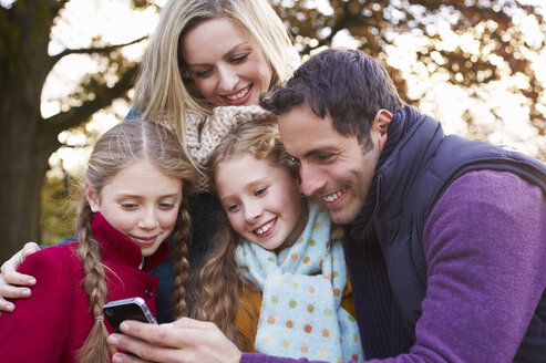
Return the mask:
<path id="1" fill-rule="evenodd" d="M 278 132 L 276 117 L 255 120 L 238 124 L 213 152 L 207 169 L 210 180 L 226 160 L 253 155 L 257 159 L 284 167 L 296 179 L 298 165 L 286 154 Z M 214 183 L 213 183 L 214 184 Z M 214 186 L 212 187 L 215 191 Z M 207 255 L 199 273 L 193 315 L 199 320 L 216 323 L 223 333 L 239 349 L 244 349 L 243 339 L 237 331 L 235 318 L 239 309 L 239 291 L 245 293 L 246 286 L 235 261 L 235 251 L 240 236 L 231 228 L 226 214 L 214 235 L 214 249 Z M 254 314 L 250 314 L 254 315 Z"/>

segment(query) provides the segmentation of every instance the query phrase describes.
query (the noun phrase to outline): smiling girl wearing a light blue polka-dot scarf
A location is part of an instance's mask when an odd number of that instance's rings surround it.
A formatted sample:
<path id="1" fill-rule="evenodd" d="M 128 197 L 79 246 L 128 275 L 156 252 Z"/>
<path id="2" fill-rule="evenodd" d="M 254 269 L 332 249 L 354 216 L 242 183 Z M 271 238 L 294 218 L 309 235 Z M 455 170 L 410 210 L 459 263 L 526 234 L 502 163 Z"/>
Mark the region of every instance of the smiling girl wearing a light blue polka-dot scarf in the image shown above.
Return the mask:
<path id="1" fill-rule="evenodd" d="M 275 116 L 259 107 L 233 112 L 233 129 L 210 127 L 226 133 L 212 135 L 222 141 L 207 164 L 225 218 L 198 273 L 194 317 L 245 352 L 362 359 L 341 227 L 301 196 Z"/>

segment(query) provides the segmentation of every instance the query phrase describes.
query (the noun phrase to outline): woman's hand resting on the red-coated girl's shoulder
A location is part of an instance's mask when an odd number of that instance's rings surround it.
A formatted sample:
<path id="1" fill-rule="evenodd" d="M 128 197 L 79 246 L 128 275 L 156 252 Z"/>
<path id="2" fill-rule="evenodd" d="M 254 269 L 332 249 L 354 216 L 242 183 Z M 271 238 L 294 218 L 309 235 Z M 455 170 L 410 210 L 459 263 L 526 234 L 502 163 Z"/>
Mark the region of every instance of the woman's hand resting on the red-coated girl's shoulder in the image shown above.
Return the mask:
<path id="1" fill-rule="evenodd" d="M 6 299 L 29 298 L 31 291 L 29 287 L 37 283 L 32 276 L 17 272 L 17 269 L 27 257 L 40 250 L 34 242 L 28 242 L 24 247 L 3 262 L 0 268 L 0 311 L 12 312 L 16 305 Z"/>

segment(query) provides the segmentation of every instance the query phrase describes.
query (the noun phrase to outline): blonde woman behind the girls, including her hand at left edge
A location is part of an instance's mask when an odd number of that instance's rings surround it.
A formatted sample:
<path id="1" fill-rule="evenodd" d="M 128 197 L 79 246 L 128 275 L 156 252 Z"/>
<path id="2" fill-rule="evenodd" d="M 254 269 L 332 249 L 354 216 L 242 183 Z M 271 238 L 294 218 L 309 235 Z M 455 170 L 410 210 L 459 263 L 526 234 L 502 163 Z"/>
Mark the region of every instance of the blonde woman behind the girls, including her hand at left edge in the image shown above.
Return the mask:
<path id="1" fill-rule="evenodd" d="M 135 106 L 127 118 L 138 115 L 171 126 L 192 164 L 200 167 L 199 129 L 214 107 L 258 104 L 259 94 L 284 80 L 297 63 L 286 29 L 267 0 L 171 0 L 144 55 Z M 208 249 L 215 214 L 222 212 L 210 194 L 195 194 L 189 200 L 193 268 Z M 30 297 L 28 287 L 35 279 L 16 270 L 35 250 L 35 243 L 28 243 L 2 265 L 1 311 L 14 309 L 14 303 L 3 298 Z M 156 298 L 159 322 L 173 319 L 172 263 L 169 257 L 152 271 L 161 281 Z"/>

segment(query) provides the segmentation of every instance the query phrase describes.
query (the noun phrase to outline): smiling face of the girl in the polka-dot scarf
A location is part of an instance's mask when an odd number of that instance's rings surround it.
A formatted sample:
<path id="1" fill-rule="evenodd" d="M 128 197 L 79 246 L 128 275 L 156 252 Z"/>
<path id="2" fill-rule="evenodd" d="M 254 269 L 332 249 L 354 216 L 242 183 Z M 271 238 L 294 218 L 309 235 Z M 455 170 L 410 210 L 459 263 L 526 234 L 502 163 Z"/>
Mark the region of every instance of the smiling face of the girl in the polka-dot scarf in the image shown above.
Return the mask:
<path id="1" fill-rule="evenodd" d="M 245 239 L 277 250 L 293 245 L 303 231 L 307 208 L 299 184 L 282 166 L 253 155 L 227 159 L 215 184 L 231 227 Z"/>

